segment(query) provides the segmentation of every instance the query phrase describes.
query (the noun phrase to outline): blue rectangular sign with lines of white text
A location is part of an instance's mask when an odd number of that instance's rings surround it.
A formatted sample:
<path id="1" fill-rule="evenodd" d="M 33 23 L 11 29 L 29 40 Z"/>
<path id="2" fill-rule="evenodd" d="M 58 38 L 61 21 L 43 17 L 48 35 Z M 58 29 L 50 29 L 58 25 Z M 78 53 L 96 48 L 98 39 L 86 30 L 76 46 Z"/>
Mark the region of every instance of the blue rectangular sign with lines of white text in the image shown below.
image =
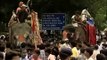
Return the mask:
<path id="1" fill-rule="evenodd" d="M 62 30 L 65 26 L 65 13 L 42 14 L 42 30 Z"/>

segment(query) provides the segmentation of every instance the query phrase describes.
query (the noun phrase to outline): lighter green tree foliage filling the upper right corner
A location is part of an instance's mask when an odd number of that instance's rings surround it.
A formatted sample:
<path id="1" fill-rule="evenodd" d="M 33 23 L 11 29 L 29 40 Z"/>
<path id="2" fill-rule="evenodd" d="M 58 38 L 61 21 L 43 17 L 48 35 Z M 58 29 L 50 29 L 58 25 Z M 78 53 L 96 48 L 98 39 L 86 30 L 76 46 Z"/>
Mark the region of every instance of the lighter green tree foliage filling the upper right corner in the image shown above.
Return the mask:
<path id="1" fill-rule="evenodd" d="M 91 1 L 90 11 L 95 18 L 95 23 L 98 29 L 103 30 L 107 27 L 107 1 L 93 0 Z"/>

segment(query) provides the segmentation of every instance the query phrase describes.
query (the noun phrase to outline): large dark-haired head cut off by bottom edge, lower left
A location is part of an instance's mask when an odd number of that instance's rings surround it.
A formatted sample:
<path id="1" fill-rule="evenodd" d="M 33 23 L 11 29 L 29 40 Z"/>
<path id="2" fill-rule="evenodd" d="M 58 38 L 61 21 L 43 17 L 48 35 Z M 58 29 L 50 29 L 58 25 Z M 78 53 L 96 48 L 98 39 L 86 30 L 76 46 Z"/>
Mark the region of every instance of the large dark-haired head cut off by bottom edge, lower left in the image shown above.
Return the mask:
<path id="1" fill-rule="evenodd" d="M 6 53 L 5 60 L 20 60 L 20 54 L 17 52 Z"/>

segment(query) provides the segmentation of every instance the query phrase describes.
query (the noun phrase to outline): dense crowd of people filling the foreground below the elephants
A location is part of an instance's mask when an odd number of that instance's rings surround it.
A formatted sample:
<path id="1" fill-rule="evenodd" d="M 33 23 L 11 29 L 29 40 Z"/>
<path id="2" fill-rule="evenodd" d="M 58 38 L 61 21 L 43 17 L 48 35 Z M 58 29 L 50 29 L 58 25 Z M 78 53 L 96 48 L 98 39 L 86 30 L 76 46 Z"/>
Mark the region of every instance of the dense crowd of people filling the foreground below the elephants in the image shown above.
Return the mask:
<path id="1" fill-rule="evenodd" d="M 92 46 L 86 42 L 80 43 L 74 40 L 47 39 L 35 47 L 26 42 L 15 46 L 4 40 L 2 36 L 0 60 L 107 60 L 107 41 L 103 38 Z"/>

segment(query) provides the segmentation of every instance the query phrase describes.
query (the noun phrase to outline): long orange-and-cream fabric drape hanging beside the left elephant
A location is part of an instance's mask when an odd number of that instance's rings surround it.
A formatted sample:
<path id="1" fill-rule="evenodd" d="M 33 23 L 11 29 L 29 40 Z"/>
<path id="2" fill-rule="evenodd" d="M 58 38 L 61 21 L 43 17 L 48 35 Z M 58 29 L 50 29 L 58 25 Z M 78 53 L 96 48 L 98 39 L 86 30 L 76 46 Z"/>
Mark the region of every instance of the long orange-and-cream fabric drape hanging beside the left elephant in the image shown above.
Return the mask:
<path id="1" fill-rule="evenodd" d="M 40 30 L 39 30 L 39 21 L 38 21 L 38 15 L 36 12 L 31 13 L 32 20 L 31 20 L 31 27 L 32 27 L 32 33 L 33 33 L 33 41 L 32 43 L 38 45 L 42 43 L 42 38 L 40 36 Z"/>

